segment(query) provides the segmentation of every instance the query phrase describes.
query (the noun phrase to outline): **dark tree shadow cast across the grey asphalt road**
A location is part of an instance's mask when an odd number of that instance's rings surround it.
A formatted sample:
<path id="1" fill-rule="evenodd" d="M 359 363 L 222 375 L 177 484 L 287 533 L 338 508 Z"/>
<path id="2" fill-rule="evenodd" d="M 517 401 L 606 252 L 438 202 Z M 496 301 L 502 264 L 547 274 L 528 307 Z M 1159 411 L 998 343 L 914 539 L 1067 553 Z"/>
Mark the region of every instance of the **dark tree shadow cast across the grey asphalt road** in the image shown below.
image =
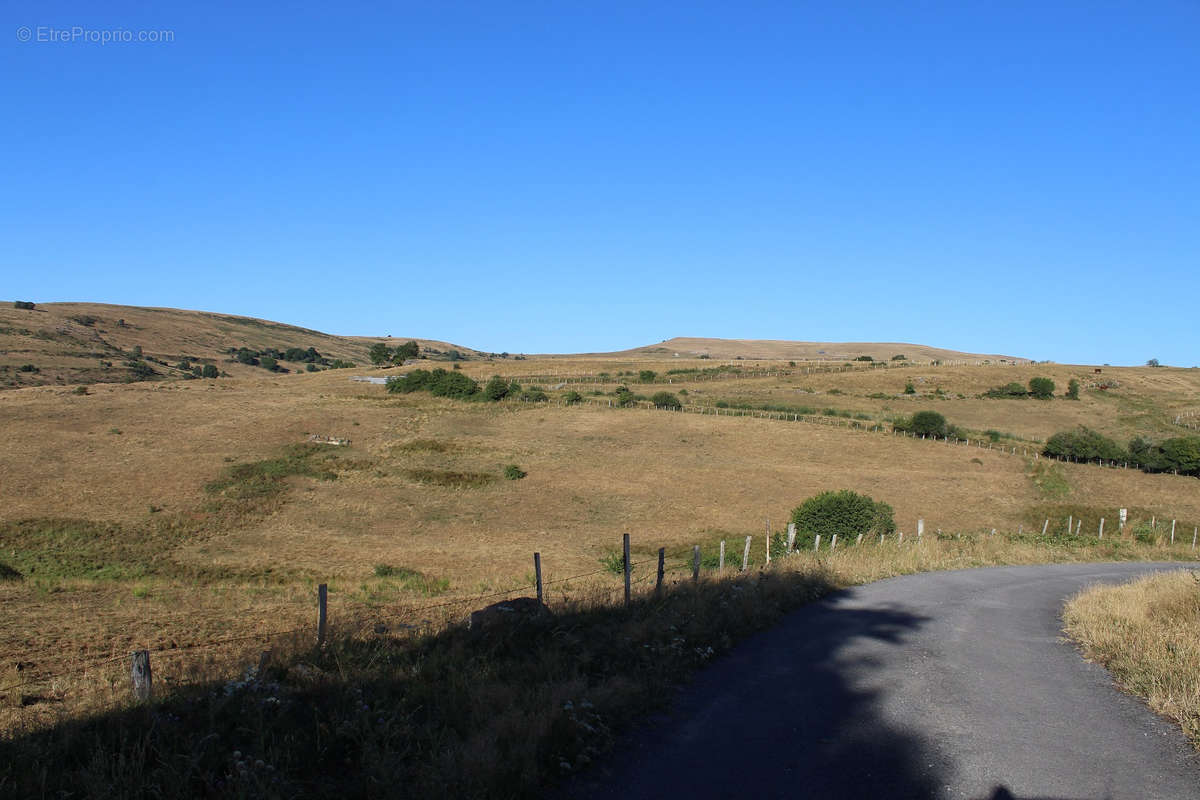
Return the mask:
<path id="1" fill-rule="evenodd" d="M 877 705 L 878 656 L 925 618 L 844 608 L 853 594 L 740 645 L 560 796 L 937 796 L 947 760 Z"/>

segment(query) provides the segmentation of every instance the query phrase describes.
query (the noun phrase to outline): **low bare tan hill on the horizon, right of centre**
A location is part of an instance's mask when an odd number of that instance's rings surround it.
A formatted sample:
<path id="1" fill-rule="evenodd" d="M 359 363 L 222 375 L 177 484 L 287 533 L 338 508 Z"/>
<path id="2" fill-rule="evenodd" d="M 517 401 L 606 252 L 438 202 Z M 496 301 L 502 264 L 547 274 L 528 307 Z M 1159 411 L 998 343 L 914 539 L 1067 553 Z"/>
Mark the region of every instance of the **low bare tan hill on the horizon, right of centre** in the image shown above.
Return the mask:
<path id="1" fill-rule="evenodd" d="M 1009 355 L 985 355 L 962 353 L 926 344 L 907 342 L 788 342 L 781 339 L 714 339 L 695 337 L 676 337 L 617 353 L 593 354 L 611 356 L 674 356 L 695 359 L 763 359 L 763 360 L 810 360 L 852 361 L 858 356 L 869 355 L 876 361 L 889 361 L 895 355 L 904 355 L 917 361 L 1007 361 L 1010 363 L 1028 363 L 1028 359 Z"/>

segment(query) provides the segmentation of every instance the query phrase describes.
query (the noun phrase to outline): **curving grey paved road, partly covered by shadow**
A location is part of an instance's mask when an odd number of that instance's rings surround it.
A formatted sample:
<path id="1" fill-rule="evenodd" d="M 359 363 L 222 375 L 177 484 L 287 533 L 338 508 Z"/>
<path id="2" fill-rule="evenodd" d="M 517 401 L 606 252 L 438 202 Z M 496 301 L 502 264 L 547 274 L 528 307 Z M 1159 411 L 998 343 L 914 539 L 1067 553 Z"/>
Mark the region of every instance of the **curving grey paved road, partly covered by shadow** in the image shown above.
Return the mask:
<path id="1" fill-rule="evenodd" d="M 1183 734 L 1061 639 L 1062 602 L 1180 564 L 839 593 L 704 670 L 572 798 L 1200 798 Z M 1194 566 L 1194 565 L 1193 565 Z"/>

